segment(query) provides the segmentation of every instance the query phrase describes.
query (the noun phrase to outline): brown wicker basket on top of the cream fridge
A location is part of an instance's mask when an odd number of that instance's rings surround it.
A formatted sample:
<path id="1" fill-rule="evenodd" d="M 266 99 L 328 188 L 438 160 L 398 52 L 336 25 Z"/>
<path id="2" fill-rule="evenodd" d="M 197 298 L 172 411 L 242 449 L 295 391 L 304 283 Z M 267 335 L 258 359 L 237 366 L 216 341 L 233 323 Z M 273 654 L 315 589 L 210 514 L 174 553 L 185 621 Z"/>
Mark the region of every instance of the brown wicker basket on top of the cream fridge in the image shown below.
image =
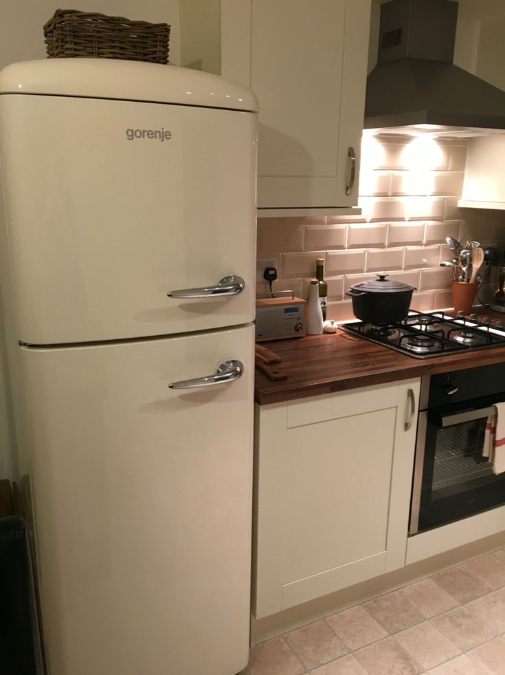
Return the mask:
<path id="1" fill-rule="evenodd" d="M 85 56 L 168 63 L 170 25 L 56 10 L 44 25 L 48 58 Z"/>

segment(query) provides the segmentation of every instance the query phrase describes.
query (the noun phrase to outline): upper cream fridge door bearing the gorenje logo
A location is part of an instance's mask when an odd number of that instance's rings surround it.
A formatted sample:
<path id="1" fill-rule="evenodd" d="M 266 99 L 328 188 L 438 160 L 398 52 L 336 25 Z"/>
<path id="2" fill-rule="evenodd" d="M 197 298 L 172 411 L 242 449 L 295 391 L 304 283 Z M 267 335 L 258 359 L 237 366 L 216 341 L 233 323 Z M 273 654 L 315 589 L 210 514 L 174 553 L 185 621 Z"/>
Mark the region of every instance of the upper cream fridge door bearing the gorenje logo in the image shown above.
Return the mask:
<path id="1" fill-rule="evenodd" d="M 256 114 L 5 94 L 0 152 L 20 341 L 254 318 Z M 245 288 L 232 280 L 224 294 L 167 295 L 229 275 Z"/>

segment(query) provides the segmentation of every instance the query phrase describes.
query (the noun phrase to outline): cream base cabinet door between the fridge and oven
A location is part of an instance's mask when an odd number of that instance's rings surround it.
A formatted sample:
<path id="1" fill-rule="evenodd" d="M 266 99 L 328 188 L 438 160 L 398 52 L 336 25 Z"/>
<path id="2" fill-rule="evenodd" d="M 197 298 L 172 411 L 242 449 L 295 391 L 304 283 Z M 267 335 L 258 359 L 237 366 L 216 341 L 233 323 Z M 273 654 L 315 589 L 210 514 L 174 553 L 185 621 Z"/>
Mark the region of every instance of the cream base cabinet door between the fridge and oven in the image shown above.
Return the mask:
<path id="1" fill-rule="evenodd" d="M 256 406 L 256 619 L 405 565 L 419 385 Z"/>

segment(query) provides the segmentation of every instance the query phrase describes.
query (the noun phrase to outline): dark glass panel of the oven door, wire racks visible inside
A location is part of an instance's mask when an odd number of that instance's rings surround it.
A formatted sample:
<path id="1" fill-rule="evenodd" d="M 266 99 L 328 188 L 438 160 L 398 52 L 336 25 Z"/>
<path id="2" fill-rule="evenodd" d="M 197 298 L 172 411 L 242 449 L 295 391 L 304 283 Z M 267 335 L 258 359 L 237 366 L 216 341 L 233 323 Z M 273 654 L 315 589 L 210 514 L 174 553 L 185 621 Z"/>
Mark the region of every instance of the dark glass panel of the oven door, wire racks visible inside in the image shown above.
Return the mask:
<path id="1" fill-rule="evenodd" d="M 418 531 L 505 504 L 505 473 L 484 458 L 486 417 L 443 427 L 428 413 Z"/>

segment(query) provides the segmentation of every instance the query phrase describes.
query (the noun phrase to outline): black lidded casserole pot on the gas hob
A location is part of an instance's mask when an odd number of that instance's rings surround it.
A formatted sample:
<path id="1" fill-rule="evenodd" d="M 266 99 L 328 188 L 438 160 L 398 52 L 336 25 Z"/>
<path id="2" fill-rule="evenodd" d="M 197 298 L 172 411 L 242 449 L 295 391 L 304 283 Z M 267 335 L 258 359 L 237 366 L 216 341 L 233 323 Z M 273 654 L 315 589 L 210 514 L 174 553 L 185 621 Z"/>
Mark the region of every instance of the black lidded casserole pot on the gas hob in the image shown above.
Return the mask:
<path id="1" fill-rule="evenodd" d="M 365 323 L 385 325 L 403 321 L 409 313 L 414 286 L 378 274 L 379 279 L 354 283 L 346 295 L 352 298 L 352 312 Z"/>

